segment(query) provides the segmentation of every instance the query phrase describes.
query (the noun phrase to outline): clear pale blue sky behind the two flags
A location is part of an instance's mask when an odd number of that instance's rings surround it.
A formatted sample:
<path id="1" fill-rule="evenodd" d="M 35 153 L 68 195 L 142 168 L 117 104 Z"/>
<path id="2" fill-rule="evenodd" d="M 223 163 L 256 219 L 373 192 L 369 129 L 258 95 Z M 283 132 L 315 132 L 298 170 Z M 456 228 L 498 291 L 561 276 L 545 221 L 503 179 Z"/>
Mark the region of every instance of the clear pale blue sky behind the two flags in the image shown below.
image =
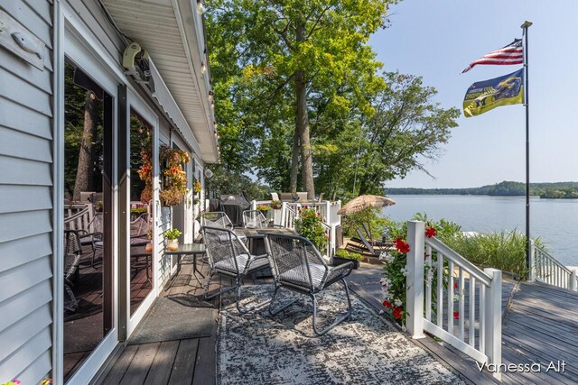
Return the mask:
<path id="1" fill-rule="evenodd" d="M 392 5 L 390 27 L 369 44 L 384 69 L 422 76 L 435 87 L 434 101 L 459 107 L 472 83 L 514 72 L 521 65 L 476 66 L 473 60 L 522 37 L 528 30 L 530 181 L 578 180 L 578 1 L 404 0 Z M 435 179 L 415 170 L 390 188 L 467 188 L 526 180 L 523 105 L 465 118 L 452 129 L 442 157 L 426 164 Z"/>

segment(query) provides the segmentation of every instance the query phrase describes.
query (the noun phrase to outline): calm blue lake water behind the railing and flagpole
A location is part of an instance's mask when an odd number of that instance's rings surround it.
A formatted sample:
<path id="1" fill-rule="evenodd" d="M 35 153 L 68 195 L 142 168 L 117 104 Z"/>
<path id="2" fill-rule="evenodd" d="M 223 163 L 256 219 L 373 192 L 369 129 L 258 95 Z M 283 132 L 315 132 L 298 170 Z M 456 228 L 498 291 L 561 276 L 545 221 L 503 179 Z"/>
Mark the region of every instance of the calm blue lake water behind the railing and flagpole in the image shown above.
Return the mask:
<path id="1" fill-rule="evenodd" d="M 433 220 L 447 219 L 463 231 L 526 232 L 526 197 L 488 196 L 390 196 L 395 206 L 384 215 L 406 221 L 415 213 Z M 578 265 L 578 199 L 530 198 L 530 236 L 540 237 L 551 254 L 565 265 Z"/>

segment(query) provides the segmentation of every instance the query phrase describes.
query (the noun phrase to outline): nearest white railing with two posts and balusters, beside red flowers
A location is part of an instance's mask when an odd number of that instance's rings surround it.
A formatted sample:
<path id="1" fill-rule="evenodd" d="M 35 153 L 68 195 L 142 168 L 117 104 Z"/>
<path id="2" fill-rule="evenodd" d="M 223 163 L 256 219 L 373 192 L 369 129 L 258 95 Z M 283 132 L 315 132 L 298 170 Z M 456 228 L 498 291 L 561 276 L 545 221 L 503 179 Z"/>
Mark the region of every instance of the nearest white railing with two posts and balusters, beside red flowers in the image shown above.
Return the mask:
<path id="1" fill-rule="evenodd" d="M 407 331 L 414 338 L 425 331 L 478 362 L 499 367 L 501 270 L 480 270 L 437 238 L 425 238 L 423 222 L 407 223 L 407 243 Z"/>

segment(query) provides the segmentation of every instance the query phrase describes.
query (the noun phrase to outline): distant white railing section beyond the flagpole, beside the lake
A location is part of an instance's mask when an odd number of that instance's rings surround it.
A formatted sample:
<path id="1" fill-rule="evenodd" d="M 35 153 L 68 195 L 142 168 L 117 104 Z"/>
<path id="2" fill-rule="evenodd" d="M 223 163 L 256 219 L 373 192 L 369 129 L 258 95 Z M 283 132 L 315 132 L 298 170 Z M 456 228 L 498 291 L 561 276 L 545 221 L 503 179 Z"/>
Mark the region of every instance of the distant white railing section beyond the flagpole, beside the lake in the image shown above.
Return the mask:
<path id="1" fill-rule="evenodd" d="M 576 271 L 570 270 L 544 249 L 532 243 L 530 280 L 539 280 L 558 288 L 578 291 Z"/>

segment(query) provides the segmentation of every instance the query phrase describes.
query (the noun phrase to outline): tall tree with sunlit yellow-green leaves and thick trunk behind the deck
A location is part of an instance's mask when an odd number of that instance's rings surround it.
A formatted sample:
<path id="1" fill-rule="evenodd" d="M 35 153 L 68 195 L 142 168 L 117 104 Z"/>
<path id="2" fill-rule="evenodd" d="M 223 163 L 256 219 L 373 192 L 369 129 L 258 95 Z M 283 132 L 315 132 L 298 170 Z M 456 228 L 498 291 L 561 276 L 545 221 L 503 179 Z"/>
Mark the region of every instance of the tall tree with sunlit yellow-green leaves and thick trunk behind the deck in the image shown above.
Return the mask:
<path id="1" fill-rule="evenodd" d="M 252 142 L 251 135 L 243 137 L 251 132 L 248 125 L 255 130 L 253 138 L 263 139 L 275 130 L 286 133 L 291 122 L 290 136 L 270 144 L 290 146 L 289 188 L 297 188 L 301 160 L 303 188 L 313 197 L 312 109 L 319 101 L 330 114 L 347 114 L 354 107 L 372 113 L 370 97 L 383 89 L 384 82 L 376 76 L 381 63 L 367 42 L 371 33 L 384 26 L 387 3 L 212 2 L 208 36 L 214 49 L 213 76 L 219 84 L 217 114 L 219 123 L 226 124 L 223 143 L 231 149 L 258 147 L 261 142 Z M 349 92 L 342 92 L 344 88 Z M 284 124 L 273 127 L 275 122 Z M 241 140 L 229 143 L 235 136 Z M 235 154 L 224 150 L 224 158 L 232 157 L 228 163 L 238 163 Z"/>

